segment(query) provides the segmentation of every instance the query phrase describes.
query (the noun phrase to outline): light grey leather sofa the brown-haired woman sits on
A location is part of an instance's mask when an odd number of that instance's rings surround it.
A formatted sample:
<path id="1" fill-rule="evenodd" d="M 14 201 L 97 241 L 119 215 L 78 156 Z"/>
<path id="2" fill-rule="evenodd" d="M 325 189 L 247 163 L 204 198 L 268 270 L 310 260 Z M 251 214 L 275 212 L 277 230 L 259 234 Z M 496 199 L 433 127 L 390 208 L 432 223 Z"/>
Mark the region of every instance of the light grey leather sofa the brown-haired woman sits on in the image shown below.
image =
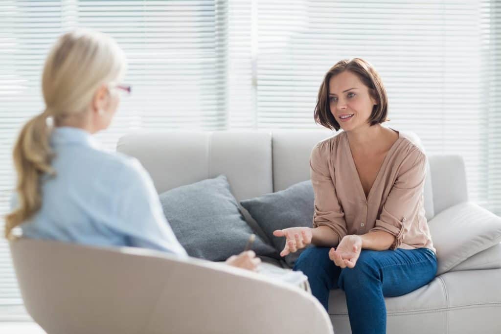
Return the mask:
<path id="1" fill-rule="evenodd" d="M 139 159 L 159 193 L 225 174 L 233 195 L 242 200 L 309 179 L 311 149 L 332 135 L 321 130 L 137 133 L 121 138 L 117 150 Z M 483 226 L 483 220 L 498 224 L 501 218 L 468 202 L 460 157 L 429 156 L 428 161 L 425 209 L 437 239 L 439 275 L 407 295 L 386 298 L 387 332 L 501 333 L 501 240 L 487 243 L 489 235 L 470 240 L 468 233 Z M 244 215 L 260 232 L 248 213 Z M 456 241 L 463 243 L 460 251 L 448 245 Z M 472 243 L 477 254 L 467 253 Z M 461 258 L 465 254 L 469 258 Z M 282 303 L 280 298 L 276 302 Z M 329 316 L 336 334 L 351 332 L 339 289 L 331 291 Z"/>

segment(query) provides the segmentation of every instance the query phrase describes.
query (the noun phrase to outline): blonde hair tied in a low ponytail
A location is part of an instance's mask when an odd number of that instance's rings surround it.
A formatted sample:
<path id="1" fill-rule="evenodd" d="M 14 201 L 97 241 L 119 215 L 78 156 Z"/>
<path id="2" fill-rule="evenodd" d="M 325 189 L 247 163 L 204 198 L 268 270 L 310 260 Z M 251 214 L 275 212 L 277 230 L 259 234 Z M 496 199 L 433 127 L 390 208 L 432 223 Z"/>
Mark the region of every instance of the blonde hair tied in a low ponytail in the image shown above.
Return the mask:
<path id="1" fill-rule="evenodd" d="M 42 207 L 42 176 L 54 176 L 50 146 L 51 117 L 59 120 L 88 112 L 96 90 L 121 79 L 125 55 L 118 44 L 102 33 L 77 29 L 62 35 L 47 56 L 42 75 L 46 110 L 21 130 L 14 147 L 18 175 L 18 207 L 6 215 L 5 235 L 30 219 Z"/>

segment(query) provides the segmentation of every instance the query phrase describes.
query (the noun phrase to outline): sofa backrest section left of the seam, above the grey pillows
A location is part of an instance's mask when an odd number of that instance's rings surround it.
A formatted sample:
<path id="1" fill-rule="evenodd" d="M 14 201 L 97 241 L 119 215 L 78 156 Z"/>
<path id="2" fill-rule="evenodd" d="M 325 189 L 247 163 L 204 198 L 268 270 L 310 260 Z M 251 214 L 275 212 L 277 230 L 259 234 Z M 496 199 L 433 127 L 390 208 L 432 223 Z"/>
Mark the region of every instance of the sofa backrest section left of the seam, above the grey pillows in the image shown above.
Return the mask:
<path id="1" fill-rule="evenodd" d="M 117 151 L 141 162 L 158 193 L 220 174 L 237 200 L 273 192 L 270 132 L 136 133 Z"/>

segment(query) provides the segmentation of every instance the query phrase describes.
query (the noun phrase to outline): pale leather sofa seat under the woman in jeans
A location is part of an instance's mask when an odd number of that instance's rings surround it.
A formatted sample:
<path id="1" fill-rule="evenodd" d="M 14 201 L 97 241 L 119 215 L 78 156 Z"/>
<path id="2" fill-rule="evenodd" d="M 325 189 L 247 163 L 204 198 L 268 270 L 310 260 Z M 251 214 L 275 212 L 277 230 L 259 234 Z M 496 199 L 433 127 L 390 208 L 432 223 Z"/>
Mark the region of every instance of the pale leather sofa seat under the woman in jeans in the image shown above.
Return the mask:
<path id="1" fill-rule="evenodd" d="M 385 297 L 388 333 L 498 333 L 501 269 L 447 272 L 402 296 Z M 336 334 L 351 333 L 346 295 L 329 294 Z"/>

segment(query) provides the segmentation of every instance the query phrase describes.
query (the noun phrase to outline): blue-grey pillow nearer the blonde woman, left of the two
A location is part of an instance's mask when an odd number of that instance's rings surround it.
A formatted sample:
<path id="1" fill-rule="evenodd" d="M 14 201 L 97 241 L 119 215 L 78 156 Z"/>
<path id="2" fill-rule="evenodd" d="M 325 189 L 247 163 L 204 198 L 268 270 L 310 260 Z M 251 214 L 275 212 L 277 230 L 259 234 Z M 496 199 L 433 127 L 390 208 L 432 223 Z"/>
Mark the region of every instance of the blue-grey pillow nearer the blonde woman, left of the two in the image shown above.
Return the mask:
<path id="1" fill-rule="evenodd" d="M 190 256 L 222 261 L 238 254 L 253 233 L 229 190 L 226 176 L 199 181 L 160 194 L 165 217 Z M 257 255 L 275 249 L 256 236 Z"/>

